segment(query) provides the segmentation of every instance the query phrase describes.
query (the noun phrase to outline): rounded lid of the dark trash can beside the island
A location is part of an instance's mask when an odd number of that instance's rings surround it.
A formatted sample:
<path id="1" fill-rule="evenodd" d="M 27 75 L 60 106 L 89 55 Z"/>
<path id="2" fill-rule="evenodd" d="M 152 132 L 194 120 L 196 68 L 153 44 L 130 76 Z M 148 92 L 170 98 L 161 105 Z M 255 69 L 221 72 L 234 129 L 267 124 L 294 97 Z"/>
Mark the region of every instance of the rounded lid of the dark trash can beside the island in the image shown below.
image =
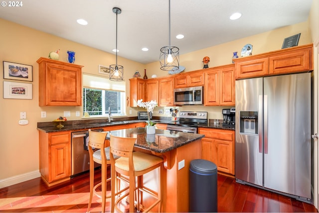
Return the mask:
<path id="1" fill-rule="evenodd" d="M 195 159 L 190 161 L 189 170 L 199 174 L 212 175 L 217 173 L 217 166 L 208 160 Z"/>

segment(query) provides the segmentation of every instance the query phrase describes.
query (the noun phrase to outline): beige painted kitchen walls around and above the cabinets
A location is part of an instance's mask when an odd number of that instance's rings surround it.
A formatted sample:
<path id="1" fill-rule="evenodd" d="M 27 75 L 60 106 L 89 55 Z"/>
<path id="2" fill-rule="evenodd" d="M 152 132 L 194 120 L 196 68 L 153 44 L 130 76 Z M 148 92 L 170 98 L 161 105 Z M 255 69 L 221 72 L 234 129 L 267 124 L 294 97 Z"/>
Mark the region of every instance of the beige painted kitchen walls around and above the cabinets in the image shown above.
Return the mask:
<path id="1" fill-rule="evenodd" d="M 66 39 L 62 39 L 44 32 L 27 28 L 6 20 L 0 19 L 0 59 L 22 63 L 33 66 L 33 99 L 32 100 L 14 100 L 3 99 L 3 87 L 0 86 L 0 111 L 1 116 L 1 148 L 0 148 L 0 188 L 4 187 L 12 179 L 14 181 L 23 181 L 37 177 L 38 173 L 38 132 L 36 123 L 51 121 L 58 116 L 63 115 L 63 111 L 71 111 L 69 120 L 80 119 L 75 116 L 75 111 L 82 111 L 82 107 L 75 106 L 38 106 L 38 65 L 36 60 L 39 57 L 47 57 L 48 53 L 60 49 L 60 60 L 67 60 L 67 50 L 76 52 L 76 64 L 83 65 L 83 72 L 98 74 L 98 65 L 109 66 L 114 64 L 115 55 L 109 54 L 97 49 L 93 49 Z M 199 51 L 180 56 L 180 65 L 186 67 L 186 71 L 201 69 L 203 67 L 202 58 L 209 56 L 211 61 L 209 67 L 231 63 L 232 52 L 237 51 L 240 55 L 241 48 L 250 43 L 253 45 L 253 54 L 281 49 L 285 37 L 301 32 L 299 45 L 311 43 L 311 35 L 308 28 L 308 22 L 287 26 L 266 33 L 242 38 L 225 44 L 208 47 Z M 125 68 L 125 79 L 127 88 L 129 88 L 129 78 L 132 78 L 136 70 L 143 76 L 144 69 L 147 69 L 148 77 L 153 74 L 165 76 L 166 72 L 160 70 L 160 63 L 154 62 L 143 65 L 119 57 L 119 64 Z M 1 70 L 3 64 L 1 62 Z M 3 72 L 0 72 L 3 75 Z M 103 76 L 103 74 L 100 74 Z M 11 81 L 11 80 L 5 80 Z M 3 85 L 3 76 L 0 78 L 0 84 Z M 127 96 L 129 91 L 127 90 Z M 225 107 L 225 106 L 224 106 Z M 208 111 L 209 118 L 221 119 L 221 106 L 183 106 L 182 110 Z M 168 107 L 169 108 L 169 107 Z M 136 116 L 137 108 L 127 108 L 133 110 L 133 116 Z M 28 125 L 18 125 L 19 112 L 26 111 Z M 41 118 L 40 112 L 46 111 L 47 118 Z M 155 110 L 155 115 L 157 110 Z"/>

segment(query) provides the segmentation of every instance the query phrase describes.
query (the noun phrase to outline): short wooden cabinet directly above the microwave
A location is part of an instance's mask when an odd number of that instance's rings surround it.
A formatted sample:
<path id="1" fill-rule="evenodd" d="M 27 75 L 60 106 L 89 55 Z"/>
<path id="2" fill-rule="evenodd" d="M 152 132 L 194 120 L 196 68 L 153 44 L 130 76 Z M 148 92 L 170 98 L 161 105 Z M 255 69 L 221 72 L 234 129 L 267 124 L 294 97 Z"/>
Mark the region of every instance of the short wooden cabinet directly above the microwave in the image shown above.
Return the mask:
<path id="1" fill-rule="evenodd" d="M 174 88 L 198 87 L 204 85 L 204 72 L 194 71 L 176 75 L 174 78 Z"/>

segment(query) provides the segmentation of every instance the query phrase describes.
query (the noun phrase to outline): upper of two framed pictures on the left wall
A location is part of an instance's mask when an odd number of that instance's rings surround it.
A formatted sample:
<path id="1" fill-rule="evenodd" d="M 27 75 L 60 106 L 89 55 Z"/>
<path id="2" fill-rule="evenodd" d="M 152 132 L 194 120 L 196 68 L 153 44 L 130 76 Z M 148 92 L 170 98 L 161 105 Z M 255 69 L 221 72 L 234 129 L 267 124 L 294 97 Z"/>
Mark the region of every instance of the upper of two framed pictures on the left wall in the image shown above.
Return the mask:
<path id="1" fill-rule="evenodd" d="M 33 81 L 32 66 L 3 61 L 3 79 Z"/>

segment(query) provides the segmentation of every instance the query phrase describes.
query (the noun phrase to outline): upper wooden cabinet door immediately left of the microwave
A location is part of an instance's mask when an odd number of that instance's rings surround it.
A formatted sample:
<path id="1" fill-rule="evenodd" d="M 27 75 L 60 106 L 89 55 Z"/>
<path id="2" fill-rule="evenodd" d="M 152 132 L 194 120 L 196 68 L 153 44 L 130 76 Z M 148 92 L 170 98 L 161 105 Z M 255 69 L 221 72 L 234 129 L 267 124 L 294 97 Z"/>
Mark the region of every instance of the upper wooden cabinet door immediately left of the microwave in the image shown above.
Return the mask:
<path id="1" fill-rule="evenodd" d="M 159 88 L 159 106 L 174 106 L 174 79 L 160 79 Z"/>

